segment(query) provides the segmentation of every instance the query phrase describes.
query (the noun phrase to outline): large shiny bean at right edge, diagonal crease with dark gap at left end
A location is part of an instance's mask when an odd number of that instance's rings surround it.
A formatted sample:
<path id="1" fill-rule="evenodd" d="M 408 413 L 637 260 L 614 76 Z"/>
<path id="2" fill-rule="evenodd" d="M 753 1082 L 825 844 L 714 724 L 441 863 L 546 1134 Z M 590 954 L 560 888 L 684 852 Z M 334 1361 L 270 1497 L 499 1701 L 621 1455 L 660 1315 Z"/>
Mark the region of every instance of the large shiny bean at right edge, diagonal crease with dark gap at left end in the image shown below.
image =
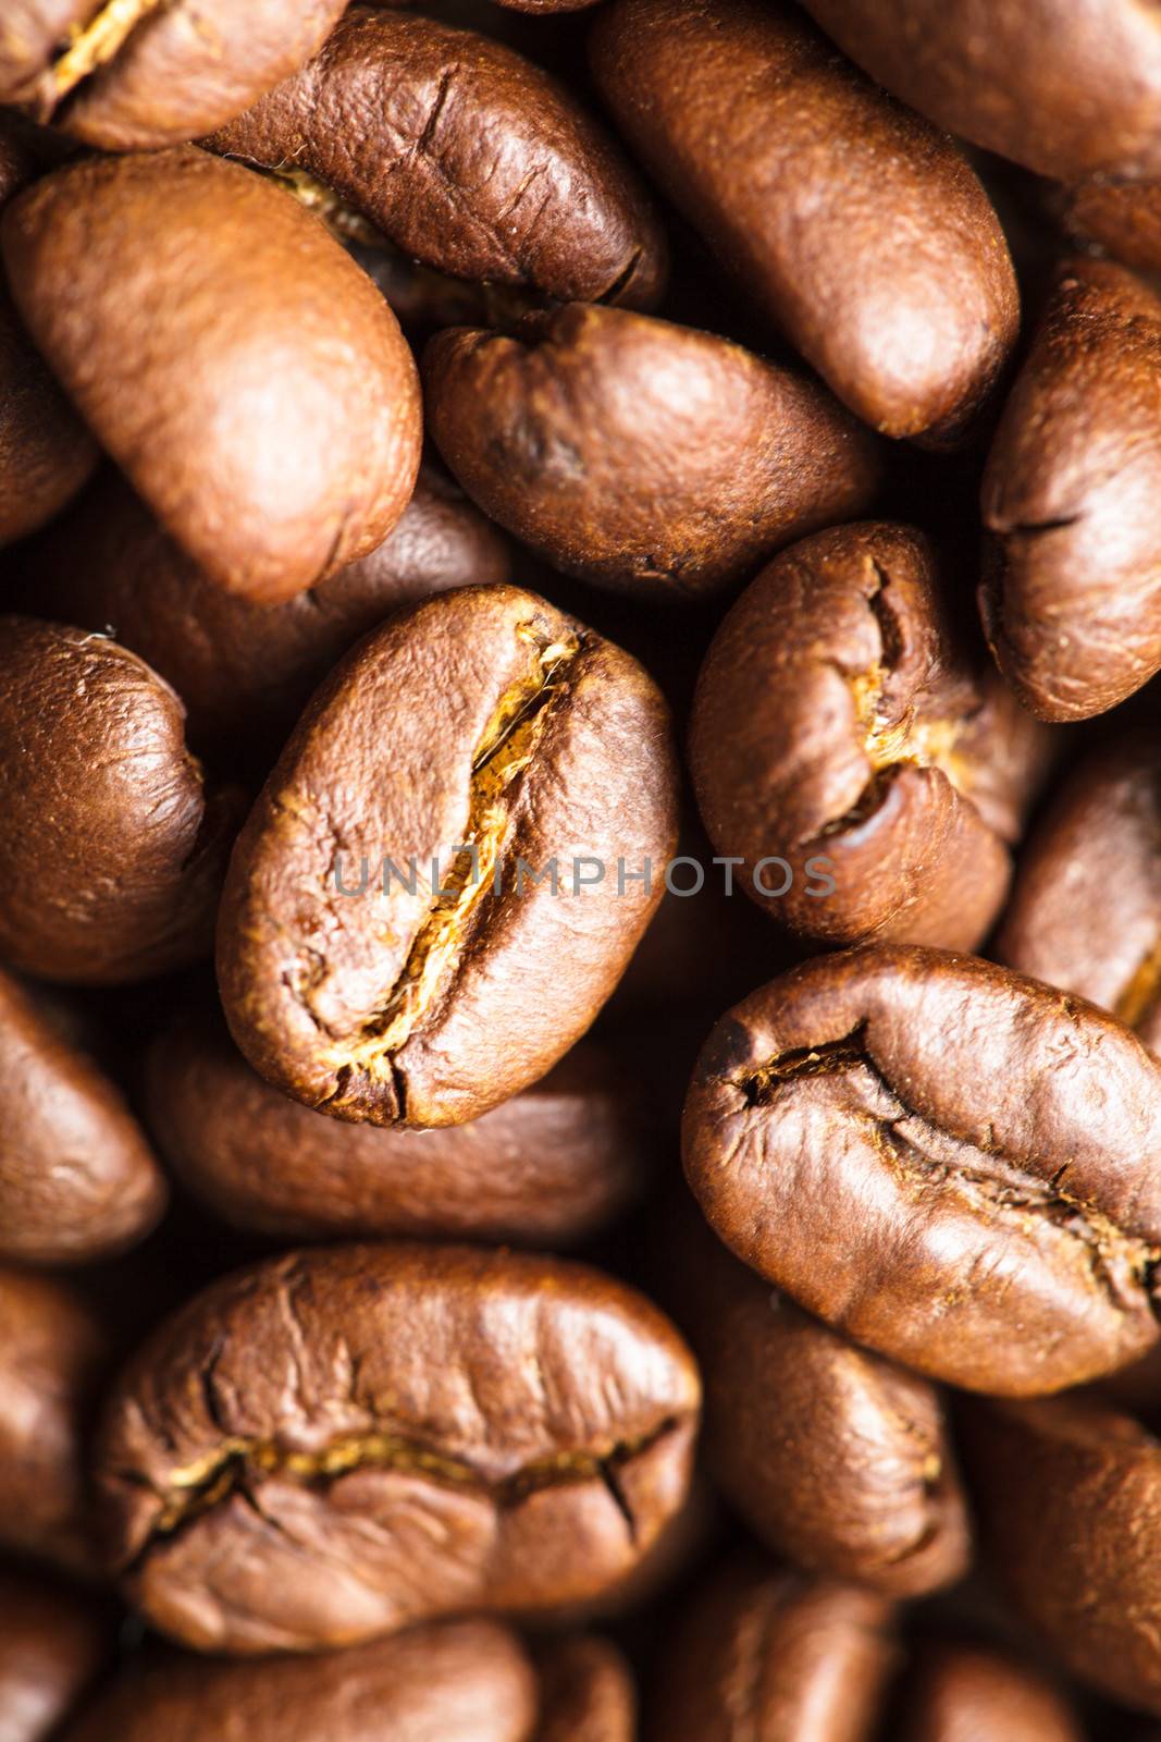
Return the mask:
<path id="1" fill-rule="evenodd" d="M 1018 1397 L 1158 1341 L 1161 1073 L 971 956 L 816 956 L 728 1012 L 684 1117 L 738 1258 L 870 1348 Z"/>

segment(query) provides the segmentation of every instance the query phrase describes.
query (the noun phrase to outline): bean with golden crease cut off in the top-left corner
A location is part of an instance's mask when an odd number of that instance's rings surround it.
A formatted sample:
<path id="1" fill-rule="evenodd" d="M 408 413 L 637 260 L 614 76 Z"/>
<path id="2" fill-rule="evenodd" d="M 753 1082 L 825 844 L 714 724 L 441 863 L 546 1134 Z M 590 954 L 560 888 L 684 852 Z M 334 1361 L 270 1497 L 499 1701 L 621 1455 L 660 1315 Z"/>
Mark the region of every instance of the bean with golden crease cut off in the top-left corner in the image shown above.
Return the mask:
<path id="1" fill-rule="evenodd" d="M 345 0 L 9 0 L 0 103 L 101 152 L 181 145 L 310 59 Z M 73 37 L 77 33 L 77 37 Z"/>

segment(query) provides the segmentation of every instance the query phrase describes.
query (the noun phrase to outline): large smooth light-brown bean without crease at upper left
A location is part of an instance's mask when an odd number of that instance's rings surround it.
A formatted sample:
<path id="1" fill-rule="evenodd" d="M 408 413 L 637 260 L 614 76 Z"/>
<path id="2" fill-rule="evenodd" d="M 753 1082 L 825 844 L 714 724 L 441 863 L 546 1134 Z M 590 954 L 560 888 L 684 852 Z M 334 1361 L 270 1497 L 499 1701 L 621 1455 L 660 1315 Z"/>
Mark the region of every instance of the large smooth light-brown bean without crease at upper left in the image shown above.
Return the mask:
<path id="1" fill-rule="evenodd" d="M 9 204 L 3 256 L 82 416 L 218 585 L 277 604 L 399 521 L 419 463 L 411 352 L 261 176 L 191 148 L 82 159 Z"/>

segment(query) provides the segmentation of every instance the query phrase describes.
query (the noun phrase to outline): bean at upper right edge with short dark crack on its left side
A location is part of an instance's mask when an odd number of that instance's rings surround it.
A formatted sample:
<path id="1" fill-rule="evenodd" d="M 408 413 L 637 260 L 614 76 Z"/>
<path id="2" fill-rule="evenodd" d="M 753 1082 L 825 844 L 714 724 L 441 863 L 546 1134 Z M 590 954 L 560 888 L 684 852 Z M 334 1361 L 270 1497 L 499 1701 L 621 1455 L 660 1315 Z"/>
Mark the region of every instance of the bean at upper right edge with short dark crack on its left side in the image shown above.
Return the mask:
<path id="1" fill-rule="evenodd" d="M 1072 261 L 983 477 L 983 627 L 1043 719 L 1088 719 L 1161 669 L 1159 394 L 1161 298 Z"/>

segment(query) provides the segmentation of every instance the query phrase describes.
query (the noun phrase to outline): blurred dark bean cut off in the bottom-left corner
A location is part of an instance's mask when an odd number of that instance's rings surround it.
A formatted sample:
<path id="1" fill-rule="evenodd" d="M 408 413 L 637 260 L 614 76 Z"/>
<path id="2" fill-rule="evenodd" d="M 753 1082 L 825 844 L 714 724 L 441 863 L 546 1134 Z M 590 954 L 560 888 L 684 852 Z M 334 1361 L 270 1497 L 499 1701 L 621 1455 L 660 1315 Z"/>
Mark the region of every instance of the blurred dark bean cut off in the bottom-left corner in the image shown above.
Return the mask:
<path id="1" fill-rule="evenodd" d="M 99 1608 L 30 1573 L 0 1571 L 0 1742 L 47 1742 L 108 1653 Z"/>

